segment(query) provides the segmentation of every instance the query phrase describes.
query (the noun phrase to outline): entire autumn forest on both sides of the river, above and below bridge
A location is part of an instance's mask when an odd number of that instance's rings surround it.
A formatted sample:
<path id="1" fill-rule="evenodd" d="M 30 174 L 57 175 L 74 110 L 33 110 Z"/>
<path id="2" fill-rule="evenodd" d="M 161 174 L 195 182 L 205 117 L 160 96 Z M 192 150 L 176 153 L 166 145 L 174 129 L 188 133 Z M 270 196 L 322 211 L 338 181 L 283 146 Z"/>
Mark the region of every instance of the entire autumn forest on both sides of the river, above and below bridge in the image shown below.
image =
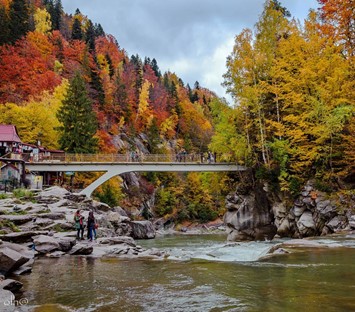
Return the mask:
<path id="1" fill-rule="evenodd" d="M 80 8 L 69 15 L 60 0 L 0 0 L 0 124 L 68 153 L 127 153 L 137 141 L 152 154 L 210 150 L 290 197 L 311 178 L 323 191 L 347 192 L 355 185 L 355 12 L 352 0 L 318 2 L 297 21 L 266 0 L 255 27 L 236 34 L 221 77 L 232 105 L 161 72 L 155 58 L 128 56 Z M 138 185 L 112 179 L 95 196 L 133 209 L 154 194 L 155 216 L 208 221 L 223 215 L 240 179 L 150 173 Z"/>

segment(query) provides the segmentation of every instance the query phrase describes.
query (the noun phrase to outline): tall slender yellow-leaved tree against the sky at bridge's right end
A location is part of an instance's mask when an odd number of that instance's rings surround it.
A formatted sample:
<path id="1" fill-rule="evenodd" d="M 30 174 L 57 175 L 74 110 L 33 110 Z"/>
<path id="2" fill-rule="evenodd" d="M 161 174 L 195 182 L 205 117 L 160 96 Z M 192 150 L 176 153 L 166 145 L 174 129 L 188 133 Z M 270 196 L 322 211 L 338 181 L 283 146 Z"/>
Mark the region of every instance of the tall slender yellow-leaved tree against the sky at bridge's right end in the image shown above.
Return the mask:
<path id="1" fill-rule="evenodd" d="M 236 100 L 245 116 L 245 142 L 256 155 L 254 161 L 270 166 L 268 143 L 269 120 L 274 117 L 275 102 L 268 86 L 271 83 L 271 65 L 281 38 L 287 36 L 288 11 L 276 0 L 267 0 L 256 24 L 256 32 L 245 29 L 236 36 L 232 54 L 227 59 L 224 85 Z M 278 102 L 276 102 L 278 104 Z M 278 110 L 278 107 L 276 111 Z"/>

